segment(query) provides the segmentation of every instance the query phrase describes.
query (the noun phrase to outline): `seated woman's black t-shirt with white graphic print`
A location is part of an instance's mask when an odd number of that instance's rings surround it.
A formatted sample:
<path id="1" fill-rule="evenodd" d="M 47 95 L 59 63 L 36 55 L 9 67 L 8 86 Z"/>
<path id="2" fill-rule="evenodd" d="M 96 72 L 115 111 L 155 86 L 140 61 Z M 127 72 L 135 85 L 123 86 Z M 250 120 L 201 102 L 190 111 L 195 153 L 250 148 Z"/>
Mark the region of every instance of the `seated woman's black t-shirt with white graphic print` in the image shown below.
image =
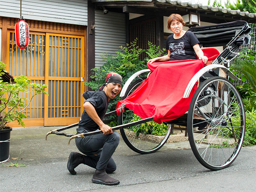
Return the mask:
<path id="1" fill-rule="evenodd" d="M 195 34 L 186 31 L 184 36 L 174 39 L 173 34 L 166 40 L 166 50 L 170 50 L 170 61 L 173 60 L 191 60 L 196 59 L 196 53 L 193 49 L 195 44 L 199 43 Z"/>

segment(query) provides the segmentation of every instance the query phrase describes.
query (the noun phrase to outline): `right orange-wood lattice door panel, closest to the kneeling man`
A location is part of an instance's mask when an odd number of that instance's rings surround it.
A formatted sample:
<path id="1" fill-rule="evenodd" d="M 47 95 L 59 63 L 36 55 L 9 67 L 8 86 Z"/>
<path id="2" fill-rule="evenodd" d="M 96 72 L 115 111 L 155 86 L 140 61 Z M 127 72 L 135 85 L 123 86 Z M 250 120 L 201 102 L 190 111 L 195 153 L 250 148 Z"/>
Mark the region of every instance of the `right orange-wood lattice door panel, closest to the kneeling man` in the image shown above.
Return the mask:
<path id="1" fill-rule="evenodd" d="M 44 126 L 68 125 L 81 116 L 84 91 L 84 37 L 46 34 Z"/>

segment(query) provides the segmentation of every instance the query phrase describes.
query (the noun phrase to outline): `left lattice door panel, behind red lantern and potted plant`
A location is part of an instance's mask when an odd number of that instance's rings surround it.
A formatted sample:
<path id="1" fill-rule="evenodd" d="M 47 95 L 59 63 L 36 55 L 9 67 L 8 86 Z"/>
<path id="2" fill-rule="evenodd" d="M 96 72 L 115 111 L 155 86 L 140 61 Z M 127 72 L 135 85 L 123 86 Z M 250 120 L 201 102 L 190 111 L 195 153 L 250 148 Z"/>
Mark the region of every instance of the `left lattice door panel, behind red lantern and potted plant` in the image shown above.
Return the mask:
<path id="1" fill-rule="evenodd" d="M 30 32 L 29 44 L 24 49 L 16 46 L 14 30 L 8 30 L 7 39 L 7 71 L 14 77 L 24 75 L 31 82 L 45 84 L 45 33 Z M 30 93 L 22 96 L 30 98 Z M 24 119 L 26 126 L 44 125 L 44 97 L 44 94 L 35 96 L 30 106 L 23 111 L 27 116 Z M 12 122 L 9 126 L 20 125 Z"/>

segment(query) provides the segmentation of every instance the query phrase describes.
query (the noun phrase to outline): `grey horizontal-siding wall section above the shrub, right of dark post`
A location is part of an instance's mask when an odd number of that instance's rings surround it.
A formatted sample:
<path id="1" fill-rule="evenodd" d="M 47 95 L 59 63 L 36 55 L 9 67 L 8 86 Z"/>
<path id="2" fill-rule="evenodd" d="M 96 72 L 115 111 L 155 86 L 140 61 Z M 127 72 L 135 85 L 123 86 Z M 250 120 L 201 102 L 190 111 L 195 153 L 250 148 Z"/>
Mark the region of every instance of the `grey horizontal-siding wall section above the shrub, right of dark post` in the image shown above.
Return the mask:
<path id="1" fill-rule="evenodd" d="M 90 46 L 90 45 L 88 45 Z M 119 46 L 126 46 L 125 14 L 95 11 L 95 67 L 104 64 L 103 54 L 116 55 Z"/>

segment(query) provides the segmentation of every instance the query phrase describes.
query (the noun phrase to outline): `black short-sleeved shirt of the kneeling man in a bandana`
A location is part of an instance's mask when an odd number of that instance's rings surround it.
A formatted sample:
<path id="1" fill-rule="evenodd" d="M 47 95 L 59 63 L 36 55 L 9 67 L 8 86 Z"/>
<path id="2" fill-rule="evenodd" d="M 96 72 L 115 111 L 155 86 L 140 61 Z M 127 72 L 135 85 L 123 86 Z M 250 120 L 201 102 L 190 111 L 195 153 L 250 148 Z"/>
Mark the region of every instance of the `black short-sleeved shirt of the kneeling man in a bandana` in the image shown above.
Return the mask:
<path id="1" fill-rule="evenodd" d="M 106 93 L 102 90 L 102 91 L 97 91 L 94 94 L 90 95 L 91 97 L 86 99 L 86 102 L 90 102 L 98 116 L 100 117 L 101 120 L 103 120 L 106 111 L 108 109 L 108 97 L 106 95 Z M 91 132 L 91 131 L 95 131 L 99 129 L 99 126 L 94 122 L 94 120 L 92 120 L 88 114 L 86 113 L 86 111 L 84 110 L 80 121 L 78 123 L 78 128 L 76 129 L 76 131 L 78 133 L 83 133 L 83 132 Z"/>

